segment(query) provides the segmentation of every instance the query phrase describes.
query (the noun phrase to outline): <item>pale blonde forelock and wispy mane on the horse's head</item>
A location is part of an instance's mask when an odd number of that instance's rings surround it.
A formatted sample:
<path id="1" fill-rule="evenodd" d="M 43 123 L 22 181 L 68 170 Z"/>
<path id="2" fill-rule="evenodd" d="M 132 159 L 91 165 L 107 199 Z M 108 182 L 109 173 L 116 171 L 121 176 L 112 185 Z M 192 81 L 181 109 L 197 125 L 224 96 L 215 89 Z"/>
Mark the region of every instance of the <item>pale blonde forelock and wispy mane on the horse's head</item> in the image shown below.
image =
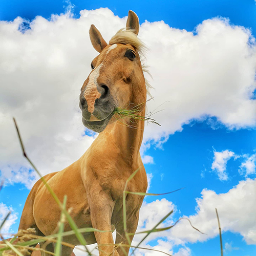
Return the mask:
<path id="1" fill-rule="evenodd" d="M 117 33 L 110 39 L 109 42 L 110 45 L 114 44 L 124 44 L 124 45 L 131 45 L 133 46 L 139 53 L 141 58 L 141 66 L 142 66 L 142 71 L 143 73 L 147 73 L 152 77 L 150 72 L 147 70 L 147 66 L 144 65 L 144 60 L 145 60 L 145 54 L 148 51 L 148 48 L 146 45 L 138 38 L 138 36 L 133 32 L 133 29 L 120 29 L 117 31 Z M 148 80 L 145 78 L 145 84 L 146 84 L 146 91 L 147 95 L 152 97 L 150 93 L 150 89 L 153 87 L 151 84 L 148 82 Z"/>

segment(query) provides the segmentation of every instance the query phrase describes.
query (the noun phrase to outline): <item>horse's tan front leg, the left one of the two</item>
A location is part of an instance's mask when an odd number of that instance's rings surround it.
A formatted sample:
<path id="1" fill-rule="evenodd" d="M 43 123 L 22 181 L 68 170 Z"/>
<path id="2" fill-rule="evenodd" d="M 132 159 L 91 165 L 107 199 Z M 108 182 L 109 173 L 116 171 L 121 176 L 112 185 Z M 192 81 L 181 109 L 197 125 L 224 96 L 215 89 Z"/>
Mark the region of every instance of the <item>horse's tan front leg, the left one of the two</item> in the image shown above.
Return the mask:
<path id="1" fill-rule="evenodd" d="M 109 230 L 109 232 L 94 232 L 98 244 L 99 256 L 119 256 L 111 231 L 111 217 L 114 202 L 110 195 L 105 193 L 100 187 L 97 189 L 94 186 L 93 192 L 93 194 L 90 193 L 91 198 L 88 198 L 92 226 L 103 231 Z"/>

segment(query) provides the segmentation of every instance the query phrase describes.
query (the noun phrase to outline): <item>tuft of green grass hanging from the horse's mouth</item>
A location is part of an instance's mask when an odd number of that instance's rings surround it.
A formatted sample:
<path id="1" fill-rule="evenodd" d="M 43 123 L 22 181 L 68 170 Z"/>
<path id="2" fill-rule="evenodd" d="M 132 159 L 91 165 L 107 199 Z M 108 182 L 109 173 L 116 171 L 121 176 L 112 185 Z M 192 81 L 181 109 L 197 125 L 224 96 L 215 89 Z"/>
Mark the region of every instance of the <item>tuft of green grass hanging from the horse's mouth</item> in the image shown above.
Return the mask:
<path id="1" fill-rule="evenodd" d="M 149 100 L 147 100 L 147 101 L 149 101 Z M 141 112 L 140 105 L 145 104 L 145 103 L 146 102 L 142 102 L 141 104 L 134 106 L 132 109 L 119 108 L 119 107 L 115 108 L 113 111 L 113 114 L 118 115 L 120 118 L 130 117 L 135 120 L 146 121 L 147 123 L 155 123 L 155 124 L 161 126 L 161 124 L 158 123 L 155 119 L 139 115 L 139 113 Z"/>

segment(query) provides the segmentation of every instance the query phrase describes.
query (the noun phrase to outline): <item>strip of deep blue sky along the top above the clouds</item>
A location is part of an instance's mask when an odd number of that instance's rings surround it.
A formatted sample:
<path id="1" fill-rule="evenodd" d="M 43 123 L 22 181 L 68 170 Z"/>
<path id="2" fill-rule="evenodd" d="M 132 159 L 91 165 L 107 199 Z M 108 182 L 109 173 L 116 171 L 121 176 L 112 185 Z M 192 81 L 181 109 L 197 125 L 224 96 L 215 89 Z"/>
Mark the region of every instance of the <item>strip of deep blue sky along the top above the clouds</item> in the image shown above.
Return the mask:
<path id="1" fill-rule="evenodd" d="M 74 13 L 78 17 L 83 9 L 97 9 L 107 7 L 115 15 L 123 17 L 127 10 L 138 13 L 140 21 L 145 19 L 150 22 L 164 20 L 172 27 L 192 31 L 202 20 L 223 16 L 229 17 L 235 25 L 256 29 L 254 17 L 256 7 L 254 1 L 231 0 L 180 0 L 180 1 L 71 1 Z M 13 20 L 17 16 L 33 19 L 37 15 L 49 18 L 52 13 L 63 12 L 65 1 L 1 1 L 0 19 Z M 255 32 L 254 32 L 255 33 Z"/>

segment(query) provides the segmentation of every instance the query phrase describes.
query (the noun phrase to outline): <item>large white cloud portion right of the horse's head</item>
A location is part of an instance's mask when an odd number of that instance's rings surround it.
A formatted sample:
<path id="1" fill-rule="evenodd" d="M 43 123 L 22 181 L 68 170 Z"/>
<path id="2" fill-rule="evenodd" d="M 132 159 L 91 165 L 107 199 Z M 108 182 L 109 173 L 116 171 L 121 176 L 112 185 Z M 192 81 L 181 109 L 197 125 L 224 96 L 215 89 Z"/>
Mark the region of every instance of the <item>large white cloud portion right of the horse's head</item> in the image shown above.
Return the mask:
<path id="1" fill-rule="evenodd" d="M 144 23 L 141 37 L 151 49 L 148 64 L 154 78 L 155 100 L 148 109 L 164 103 L 145 138 L 181 130 L 191 119 L 216 116 L 230 129 L 255 126 L 255 44 L 250 31 L 227 19 L 204 20 L 196 35 L 170 28 L 164 22 Z M 249 44 L 247 44 L 249 42 Z"/>

